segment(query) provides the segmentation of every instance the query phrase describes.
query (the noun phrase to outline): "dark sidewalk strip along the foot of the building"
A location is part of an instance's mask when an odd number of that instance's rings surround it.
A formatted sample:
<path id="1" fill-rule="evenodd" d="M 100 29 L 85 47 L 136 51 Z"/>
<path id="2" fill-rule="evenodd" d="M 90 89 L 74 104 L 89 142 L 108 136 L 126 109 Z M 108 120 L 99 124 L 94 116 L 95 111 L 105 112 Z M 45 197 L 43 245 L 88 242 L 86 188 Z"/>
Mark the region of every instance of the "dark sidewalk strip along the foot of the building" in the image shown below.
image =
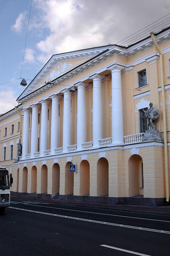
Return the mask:
<path id="1" fill-rule="evenodd" d="M 159 213 L 170 215 L 170 206 L 135 206 L 135 205 L 111 205 L 111 204 L 88 204 L 81 202 L 66 202 L 66 201 L 55 201 L 55 200 L 46 200 L 46 199 L 37 199 L 37 198 L 19 198 L 11 196 L 11 199 L 14 200 L 24 200 L 24 201 L 36 201 L 36 202 L 44 202 L 49 204 L 56 205 L 68 205 L 68 206 L 82 206 L 82 207 L 95 207 L 101 209 L 114 209 L 114 210 L 122 210 L 128 212 L 144 212 L 144 213 Z"/>

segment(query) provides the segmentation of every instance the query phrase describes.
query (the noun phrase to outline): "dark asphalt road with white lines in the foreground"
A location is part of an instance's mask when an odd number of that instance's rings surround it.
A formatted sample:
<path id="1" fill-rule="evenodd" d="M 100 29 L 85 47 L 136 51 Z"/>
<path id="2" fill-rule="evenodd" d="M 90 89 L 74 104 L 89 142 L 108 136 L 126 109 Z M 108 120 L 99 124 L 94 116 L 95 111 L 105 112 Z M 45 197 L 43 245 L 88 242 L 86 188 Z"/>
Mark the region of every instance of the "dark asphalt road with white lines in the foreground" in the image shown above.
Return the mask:
<path id="1" fill-rule="evenodd" d="M 170 215 L 14 200 L 0 256 L 170 256 Z"/>

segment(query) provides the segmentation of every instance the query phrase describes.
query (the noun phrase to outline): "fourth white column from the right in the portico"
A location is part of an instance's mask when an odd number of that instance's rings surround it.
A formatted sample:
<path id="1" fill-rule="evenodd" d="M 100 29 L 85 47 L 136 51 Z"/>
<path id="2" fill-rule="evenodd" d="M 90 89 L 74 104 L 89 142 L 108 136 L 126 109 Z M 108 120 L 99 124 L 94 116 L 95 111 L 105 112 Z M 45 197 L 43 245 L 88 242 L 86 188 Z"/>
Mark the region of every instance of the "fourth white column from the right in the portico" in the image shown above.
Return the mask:
<path id="1" fill-rule="evenodd" d="M 63 152 L 67 152 L 67 146 L 72 143 L 72 110 L 71 92 L 64 90 L 64 110 L 63 110 Z"/>

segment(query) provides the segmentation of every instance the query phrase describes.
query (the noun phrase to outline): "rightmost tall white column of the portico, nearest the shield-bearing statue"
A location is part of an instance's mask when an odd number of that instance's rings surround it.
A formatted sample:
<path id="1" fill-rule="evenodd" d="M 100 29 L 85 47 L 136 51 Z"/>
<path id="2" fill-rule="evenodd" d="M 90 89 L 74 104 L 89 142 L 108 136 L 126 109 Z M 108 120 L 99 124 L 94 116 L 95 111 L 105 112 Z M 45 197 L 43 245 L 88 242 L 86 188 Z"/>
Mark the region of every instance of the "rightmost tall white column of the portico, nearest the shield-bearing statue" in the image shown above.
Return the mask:
<path id="1" fill-rule="evenodd" d="M 121 70 L 123 68 L 118 64 L 108 68 L 112 72 L 112 145 L 124 145 L 121 95 Z"/>

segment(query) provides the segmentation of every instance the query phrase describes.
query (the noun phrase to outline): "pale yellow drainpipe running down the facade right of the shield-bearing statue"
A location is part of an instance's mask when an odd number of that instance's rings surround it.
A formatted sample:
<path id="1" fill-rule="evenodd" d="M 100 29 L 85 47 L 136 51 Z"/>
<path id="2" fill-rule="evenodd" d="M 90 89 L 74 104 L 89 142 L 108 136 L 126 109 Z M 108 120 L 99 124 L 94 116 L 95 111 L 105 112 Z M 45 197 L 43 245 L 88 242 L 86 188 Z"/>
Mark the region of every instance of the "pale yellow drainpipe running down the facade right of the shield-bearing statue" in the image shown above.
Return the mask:
<path id="1" fill-rule="evenodd" d="M 163 105 L 163 122 L 164 122 L 164 160 L 165 160 L 165 182 L 166 182 L 166 204 L 168 204 L 170 199 L 169 192 L 169 177 L 168 177 L 168 158 L 167 158 L 167 122 L 166 122 L 166 112 L 165 112 L 165 94 L 164 94 L 164 77 L 163 77 L 163 56 L 160 48 L 154 37 L 154 32 L 150 32 L 151 38 L 155 47 L 160 55 L 160 72 L 161 72 L 161 88 L 162 88 L 162 105 Z"/>

